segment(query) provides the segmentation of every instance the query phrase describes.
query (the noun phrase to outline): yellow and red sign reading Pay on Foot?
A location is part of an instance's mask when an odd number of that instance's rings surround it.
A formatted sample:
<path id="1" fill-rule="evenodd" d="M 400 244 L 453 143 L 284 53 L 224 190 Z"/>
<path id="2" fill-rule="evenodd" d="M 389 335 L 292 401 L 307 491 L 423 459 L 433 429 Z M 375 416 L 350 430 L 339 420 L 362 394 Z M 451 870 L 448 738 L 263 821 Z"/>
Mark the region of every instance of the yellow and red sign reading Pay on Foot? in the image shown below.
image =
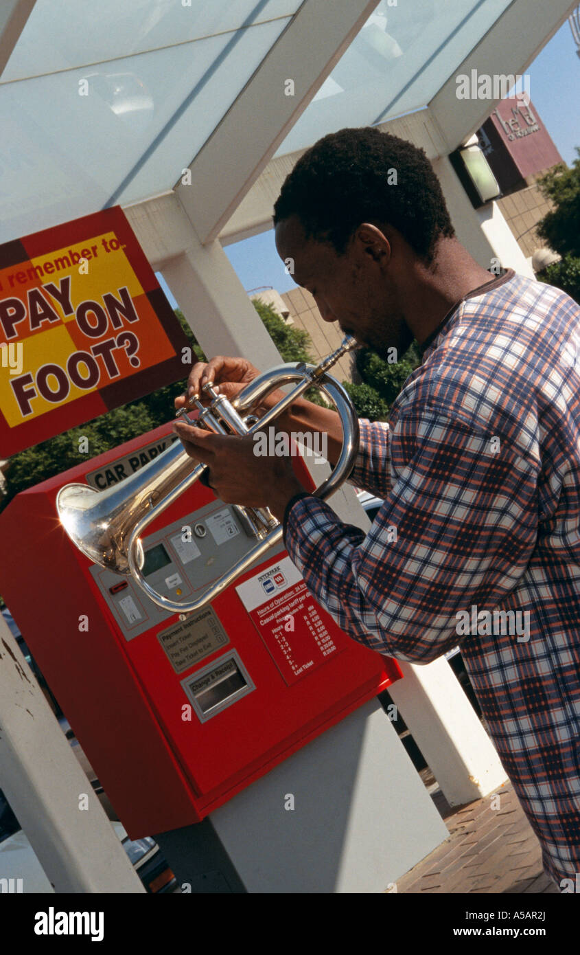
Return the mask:
<path id="1" fill-rule="evenodd" d="M 119 206 L 0 245 L 0 457 L 184 377 L 187 346 Z"/>

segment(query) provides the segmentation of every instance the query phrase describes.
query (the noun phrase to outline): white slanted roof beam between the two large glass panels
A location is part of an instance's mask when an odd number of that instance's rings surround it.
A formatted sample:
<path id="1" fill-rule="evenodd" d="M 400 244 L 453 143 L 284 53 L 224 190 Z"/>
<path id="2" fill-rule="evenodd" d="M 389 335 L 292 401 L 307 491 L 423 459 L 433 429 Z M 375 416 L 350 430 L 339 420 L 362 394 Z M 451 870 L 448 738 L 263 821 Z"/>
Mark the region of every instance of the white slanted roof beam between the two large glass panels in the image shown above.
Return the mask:
<path id="1" fill-rule="evenodd" d="M 333 0 L 329 11 L 328 0 L 304 0 L 192 162 L 191 182 L 176 185 L 202 244 L 217 239 L 377 3 Z"/>

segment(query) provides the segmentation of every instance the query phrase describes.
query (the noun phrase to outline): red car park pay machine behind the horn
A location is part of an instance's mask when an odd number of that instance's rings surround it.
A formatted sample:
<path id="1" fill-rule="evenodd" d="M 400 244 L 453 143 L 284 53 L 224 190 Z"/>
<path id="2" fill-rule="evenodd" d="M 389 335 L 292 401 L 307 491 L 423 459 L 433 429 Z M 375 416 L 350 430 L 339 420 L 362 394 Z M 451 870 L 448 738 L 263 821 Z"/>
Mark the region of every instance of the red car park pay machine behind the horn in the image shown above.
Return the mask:
<path id="1" fill-rule="evenodd" d="M 200 821 L 401 676 L 342 633 L 281 547 L 184 621 L 76 549 L 58 490 L 104 490 L 174 439 L 141 435 L 0 515 L 0 590 L 132 838 Z M 197 482 L 148 529 L 144 573 L 185 600 L 254 543 Z"/>

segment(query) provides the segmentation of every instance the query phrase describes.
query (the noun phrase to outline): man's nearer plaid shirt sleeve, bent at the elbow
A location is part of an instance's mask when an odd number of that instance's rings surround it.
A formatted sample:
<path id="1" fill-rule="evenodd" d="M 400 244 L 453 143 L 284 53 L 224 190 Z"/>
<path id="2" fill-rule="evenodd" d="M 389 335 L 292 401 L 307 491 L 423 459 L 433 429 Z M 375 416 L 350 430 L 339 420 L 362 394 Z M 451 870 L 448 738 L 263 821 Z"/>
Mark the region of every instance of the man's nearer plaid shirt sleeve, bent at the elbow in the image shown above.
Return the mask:
<path id="1" fill-rule="evenodd" d="M 517 584 L 536 541 L 539 465 L 491 437 L 433 410 L 402 415 L 392 487 L 366 535 L 319 499 L 290 508 L 288 553 L 349 636 L 428 663 L 460 642 L 459 611 L 493 609 Z"/>

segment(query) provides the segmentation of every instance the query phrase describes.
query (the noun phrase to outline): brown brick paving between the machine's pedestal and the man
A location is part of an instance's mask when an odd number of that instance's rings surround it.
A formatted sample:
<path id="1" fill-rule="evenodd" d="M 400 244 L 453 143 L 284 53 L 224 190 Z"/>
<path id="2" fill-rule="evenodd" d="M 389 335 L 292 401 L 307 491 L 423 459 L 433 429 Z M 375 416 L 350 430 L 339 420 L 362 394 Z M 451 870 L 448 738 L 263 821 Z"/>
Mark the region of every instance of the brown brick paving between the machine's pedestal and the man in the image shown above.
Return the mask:
<path id="1" fill-rule="evenodd" d="M 510 783 L 495 800 L 452 809 L 429 771 L 422 775 L 449 838 L 397 881 L 397 892 L 559 894 L 542 870 L 540 843 Z"/>

